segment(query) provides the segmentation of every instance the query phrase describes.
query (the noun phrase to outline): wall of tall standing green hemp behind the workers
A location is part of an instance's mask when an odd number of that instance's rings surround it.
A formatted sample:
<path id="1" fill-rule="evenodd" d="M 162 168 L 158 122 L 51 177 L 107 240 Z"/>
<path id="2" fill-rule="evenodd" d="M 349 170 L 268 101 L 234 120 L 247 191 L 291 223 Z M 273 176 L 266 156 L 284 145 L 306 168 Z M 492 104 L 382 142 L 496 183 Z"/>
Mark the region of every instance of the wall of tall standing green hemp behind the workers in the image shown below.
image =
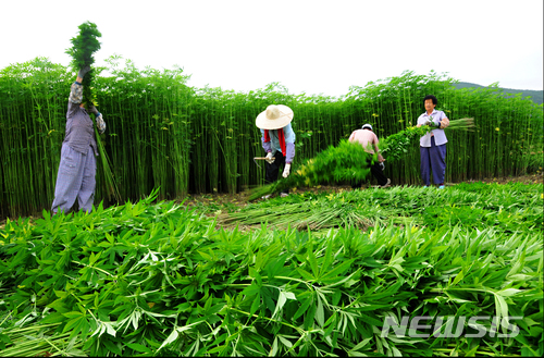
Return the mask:
<path id="1" fill-rule="evenodd" d="M 194 88 L 180 67 L 138 70 L 112 57 L 94 67 L 94 96 L 107 121 L 101 137 L 119 198 L 104 165 L 98 168 L 96 202 L 137 200 L 159 188 L 161 199 L 188 193 L 237 193 L 261 185 L 263 155 L 255 119 L 268 104 L 289 106 L 297 135 L 293 170 L 371 123 L 380 138 L 416 124 L 422 98 L 434 94 L 450 119 L 473 118 L 477 131 L 448 136 L 446 180 L 523 174 L 542 166 L 542 106 L 506 98 L 497 87 L 455 89 L 455 79 L 431 72 L 350 87 L 345 96 L 289 94 L 279 83 L 248 92 Z M 0 217 L 49 208 L 64 137 L 70 84 L 75 72 L 45 58 L 0 71 Z M 99 158 L 99 162 L 106 158 Z M 107 164 L 107 163 L 103 163 Z M 261 165 L 262 166 L 262 165 Z M 419 184 L 419 148 L 386 164 L 395 184 Z"/>

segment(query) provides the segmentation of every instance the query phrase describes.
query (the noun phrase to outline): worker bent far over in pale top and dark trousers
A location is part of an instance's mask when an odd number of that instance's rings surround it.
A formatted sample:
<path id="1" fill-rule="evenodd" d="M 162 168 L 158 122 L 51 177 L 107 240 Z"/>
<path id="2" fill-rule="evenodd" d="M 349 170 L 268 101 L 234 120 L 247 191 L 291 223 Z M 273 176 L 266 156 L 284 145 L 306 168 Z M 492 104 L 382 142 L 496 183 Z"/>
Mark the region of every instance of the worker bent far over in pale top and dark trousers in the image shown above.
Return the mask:
<path id="1" fill-rule="evenodd" d="M 349 141 L 357 141 L 359 143 L 363 148 L 364 151 L 373 155 L 374 150 L 378 153 L 378 161 L 372 163 L 372 159 L 368 158 L 367 159 L 367 164 L 370 166 L 370 172 L 372 175 L 376 178 L 378 184 L 380 184 L 380 187 L 386 188 L 391 186 L 391 180 L 385 176 L 383 173 L 383 168 L 384 164 L 383 162 L 385 159 L 382 157 L 380 153 L 380 150 L 378 149 L 378 136 L 372 132 L 372 125 L 370 124 L 364 124 L 360 129 L 354 131 L 351 135 L 349 136 Z M 374 148 L 374 149 L 372 149 Z M 361 186 L 362 183 L 354 183 L 351 187 L 358 188 Z"/>

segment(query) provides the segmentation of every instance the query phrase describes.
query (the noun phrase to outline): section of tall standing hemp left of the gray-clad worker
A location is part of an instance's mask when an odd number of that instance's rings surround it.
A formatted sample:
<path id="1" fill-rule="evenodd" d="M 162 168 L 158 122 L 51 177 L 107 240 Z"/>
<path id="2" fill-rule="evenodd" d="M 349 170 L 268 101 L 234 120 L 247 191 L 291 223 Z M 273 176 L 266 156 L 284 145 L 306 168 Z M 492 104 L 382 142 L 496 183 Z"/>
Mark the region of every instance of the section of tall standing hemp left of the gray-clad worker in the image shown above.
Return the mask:
<path id="1" fill-rule="evenodd" d="M 70 82 L 45 58 L 0 71 L 0 218 L 50 208 Z"/>

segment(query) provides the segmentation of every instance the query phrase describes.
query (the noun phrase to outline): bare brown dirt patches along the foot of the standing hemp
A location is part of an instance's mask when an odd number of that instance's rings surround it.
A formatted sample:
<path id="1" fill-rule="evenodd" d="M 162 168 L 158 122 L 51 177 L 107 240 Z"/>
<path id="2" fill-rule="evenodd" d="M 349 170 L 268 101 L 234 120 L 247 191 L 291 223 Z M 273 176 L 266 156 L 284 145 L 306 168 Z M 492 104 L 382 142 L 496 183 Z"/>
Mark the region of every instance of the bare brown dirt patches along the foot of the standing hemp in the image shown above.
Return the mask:
<path id="1" fill-rule="evenodd" d="M 523 183 L 523 184 L 544 184 L 543 172 L 539 171 L 534 174 L 515 176 L 515 177 L 490 177 L 481 181 L 468 181 L 468 182 L 483 182 L 483 183 L 498 183 L 498 184 L 507 184 L 507 183 Z M 457 183 L 446 183 L 447 186 L 455 186 Z M 320 185 L 311 188 L 297 188 L 296 190 L 292 190 L 292 193 L 339 193 L 345 190 L 351 190 L 351 187 L 348 185 L 343 186 L 327 186 Z M 184 202 L 185 207 L 198 207 L 198 206 L 207 206 L 207 205 L 234 205 L 238 207 L 244 207 L 248 203 L 248 197 L 250 193 L 249 190 L 245 190 L 237 194 L 193 194 L 187 197 Z M 5 220 L 0 221 L 0 230 L 5 225 Z"/>

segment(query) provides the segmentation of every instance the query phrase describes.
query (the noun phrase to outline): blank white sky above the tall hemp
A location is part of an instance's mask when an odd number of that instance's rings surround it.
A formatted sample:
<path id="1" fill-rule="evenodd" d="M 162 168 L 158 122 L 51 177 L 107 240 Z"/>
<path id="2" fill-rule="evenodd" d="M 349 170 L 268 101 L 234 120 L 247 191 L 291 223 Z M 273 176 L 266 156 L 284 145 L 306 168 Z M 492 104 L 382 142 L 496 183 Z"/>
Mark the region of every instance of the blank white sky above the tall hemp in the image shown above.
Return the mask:
<path id="1" fill-rule="evenodd" d="M 542 0 L 0 0 L 0 70 L 64 53 L 82 23 L 102 34 L 97 65 L 178 65 L 188 85 L 341 96 L 349 86 L 446 73 L 543 89 Z M 123 61 L 121 64 L 124 64 Z"/>

